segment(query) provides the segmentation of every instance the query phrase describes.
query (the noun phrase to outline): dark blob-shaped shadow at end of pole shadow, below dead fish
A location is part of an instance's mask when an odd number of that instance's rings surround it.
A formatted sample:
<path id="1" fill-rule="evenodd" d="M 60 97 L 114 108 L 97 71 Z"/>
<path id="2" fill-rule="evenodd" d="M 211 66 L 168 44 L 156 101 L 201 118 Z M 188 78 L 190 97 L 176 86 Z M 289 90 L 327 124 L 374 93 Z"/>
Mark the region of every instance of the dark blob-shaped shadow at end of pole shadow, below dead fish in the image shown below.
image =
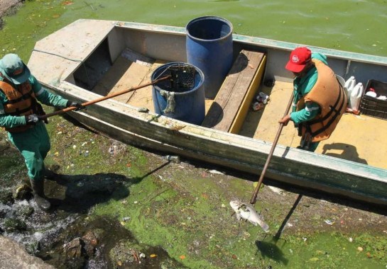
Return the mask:
<path id="1" fill-rule="evenodd" d="M 263 258 L 270 258 L 278 263 L 283 263 L 283 265 L 288 265 L 289 260 L 285 258 L 285 254 L 277 246 L 278 239 L 275 236 L 268 237 L 268 239 L 265 236 L 262 241 L 256 240 L 255 244 L 257 251 L 261 253 Z"/>

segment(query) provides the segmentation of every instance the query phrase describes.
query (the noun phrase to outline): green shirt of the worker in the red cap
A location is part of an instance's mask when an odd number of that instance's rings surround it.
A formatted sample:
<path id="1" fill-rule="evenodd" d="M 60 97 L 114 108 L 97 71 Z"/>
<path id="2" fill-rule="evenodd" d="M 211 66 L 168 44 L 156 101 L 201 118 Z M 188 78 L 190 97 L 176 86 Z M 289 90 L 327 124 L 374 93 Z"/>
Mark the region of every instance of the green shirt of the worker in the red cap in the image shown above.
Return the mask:
<path id="1" fill-rule="evenodd" d="M 327 57 L 320 53 L 312 53 L 312 59 L 319 59 L 321 62 L 327 64 Z M 300 122 L 306 122 L 312 120 L 320 113 L 320 105 L 314 102 L 306 102 L 305 108 L 296 111 L 297 103 L 301 98 L 309 93 L 317 81 L 317 69 L 313 67 L 302 78 L 296 77 L 293 81 L 294 87 L 294 99 L 292 113 L 290 113 L 290 119 L 293 120 L 295 125 Z"/>

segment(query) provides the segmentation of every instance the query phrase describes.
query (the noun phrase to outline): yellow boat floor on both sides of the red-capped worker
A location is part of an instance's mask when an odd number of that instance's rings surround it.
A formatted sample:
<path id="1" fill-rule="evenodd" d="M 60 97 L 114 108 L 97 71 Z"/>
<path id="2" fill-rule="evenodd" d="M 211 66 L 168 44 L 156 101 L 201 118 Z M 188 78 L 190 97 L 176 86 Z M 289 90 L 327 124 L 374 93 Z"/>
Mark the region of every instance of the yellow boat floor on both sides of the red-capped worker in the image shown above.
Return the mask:
<path id="1" fill-rule="evenodd" d="M 263 110 L 249 113 L 239 135 L 273 142 L 292 90 L 292 83 L 281 81 L 276 81 L 273 88 L 262 86 L 261 91 L 270 95 L 270 101 Z M 386 132 L 387 120 L 346 113 L 332 136 L 320 142 L 315 152 L 387 168 L 383 157 L 387 151 Z M 283 127 L 278 144 L 297 147 L 299 143 L 298 132 L 289 122 Z"/>

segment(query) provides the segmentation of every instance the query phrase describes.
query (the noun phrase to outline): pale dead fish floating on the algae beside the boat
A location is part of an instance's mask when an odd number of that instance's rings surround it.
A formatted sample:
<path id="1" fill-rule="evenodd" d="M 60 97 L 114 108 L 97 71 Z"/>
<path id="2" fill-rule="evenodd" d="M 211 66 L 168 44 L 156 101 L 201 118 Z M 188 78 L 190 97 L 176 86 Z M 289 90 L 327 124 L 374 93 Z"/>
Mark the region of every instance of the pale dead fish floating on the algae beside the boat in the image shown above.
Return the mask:
<path id="1" fill-rule="evenodd" d="M 253 205 L 239 200 L 231 200 L 230 206 L 236 213 L 236 219 L 246 219 L 246 221 L 251 222 L 255 226 L 259 224 L 266 233 L 269 231 L 268 224 L 263 222 L 263 218 L 256 212 Z"/>

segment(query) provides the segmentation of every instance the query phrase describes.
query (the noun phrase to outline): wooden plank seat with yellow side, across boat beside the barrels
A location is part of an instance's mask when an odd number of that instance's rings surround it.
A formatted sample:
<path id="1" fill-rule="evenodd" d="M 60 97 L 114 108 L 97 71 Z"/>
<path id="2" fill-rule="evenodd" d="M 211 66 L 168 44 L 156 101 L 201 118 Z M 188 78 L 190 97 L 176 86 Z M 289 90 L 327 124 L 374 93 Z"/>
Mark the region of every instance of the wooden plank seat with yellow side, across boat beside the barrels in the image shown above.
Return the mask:
<path id="1" fill-rule="evenodd" d="M 266 55 L 241 50 L 210 106 L 202 126 L 238 133 L 263 76 Z"/>

